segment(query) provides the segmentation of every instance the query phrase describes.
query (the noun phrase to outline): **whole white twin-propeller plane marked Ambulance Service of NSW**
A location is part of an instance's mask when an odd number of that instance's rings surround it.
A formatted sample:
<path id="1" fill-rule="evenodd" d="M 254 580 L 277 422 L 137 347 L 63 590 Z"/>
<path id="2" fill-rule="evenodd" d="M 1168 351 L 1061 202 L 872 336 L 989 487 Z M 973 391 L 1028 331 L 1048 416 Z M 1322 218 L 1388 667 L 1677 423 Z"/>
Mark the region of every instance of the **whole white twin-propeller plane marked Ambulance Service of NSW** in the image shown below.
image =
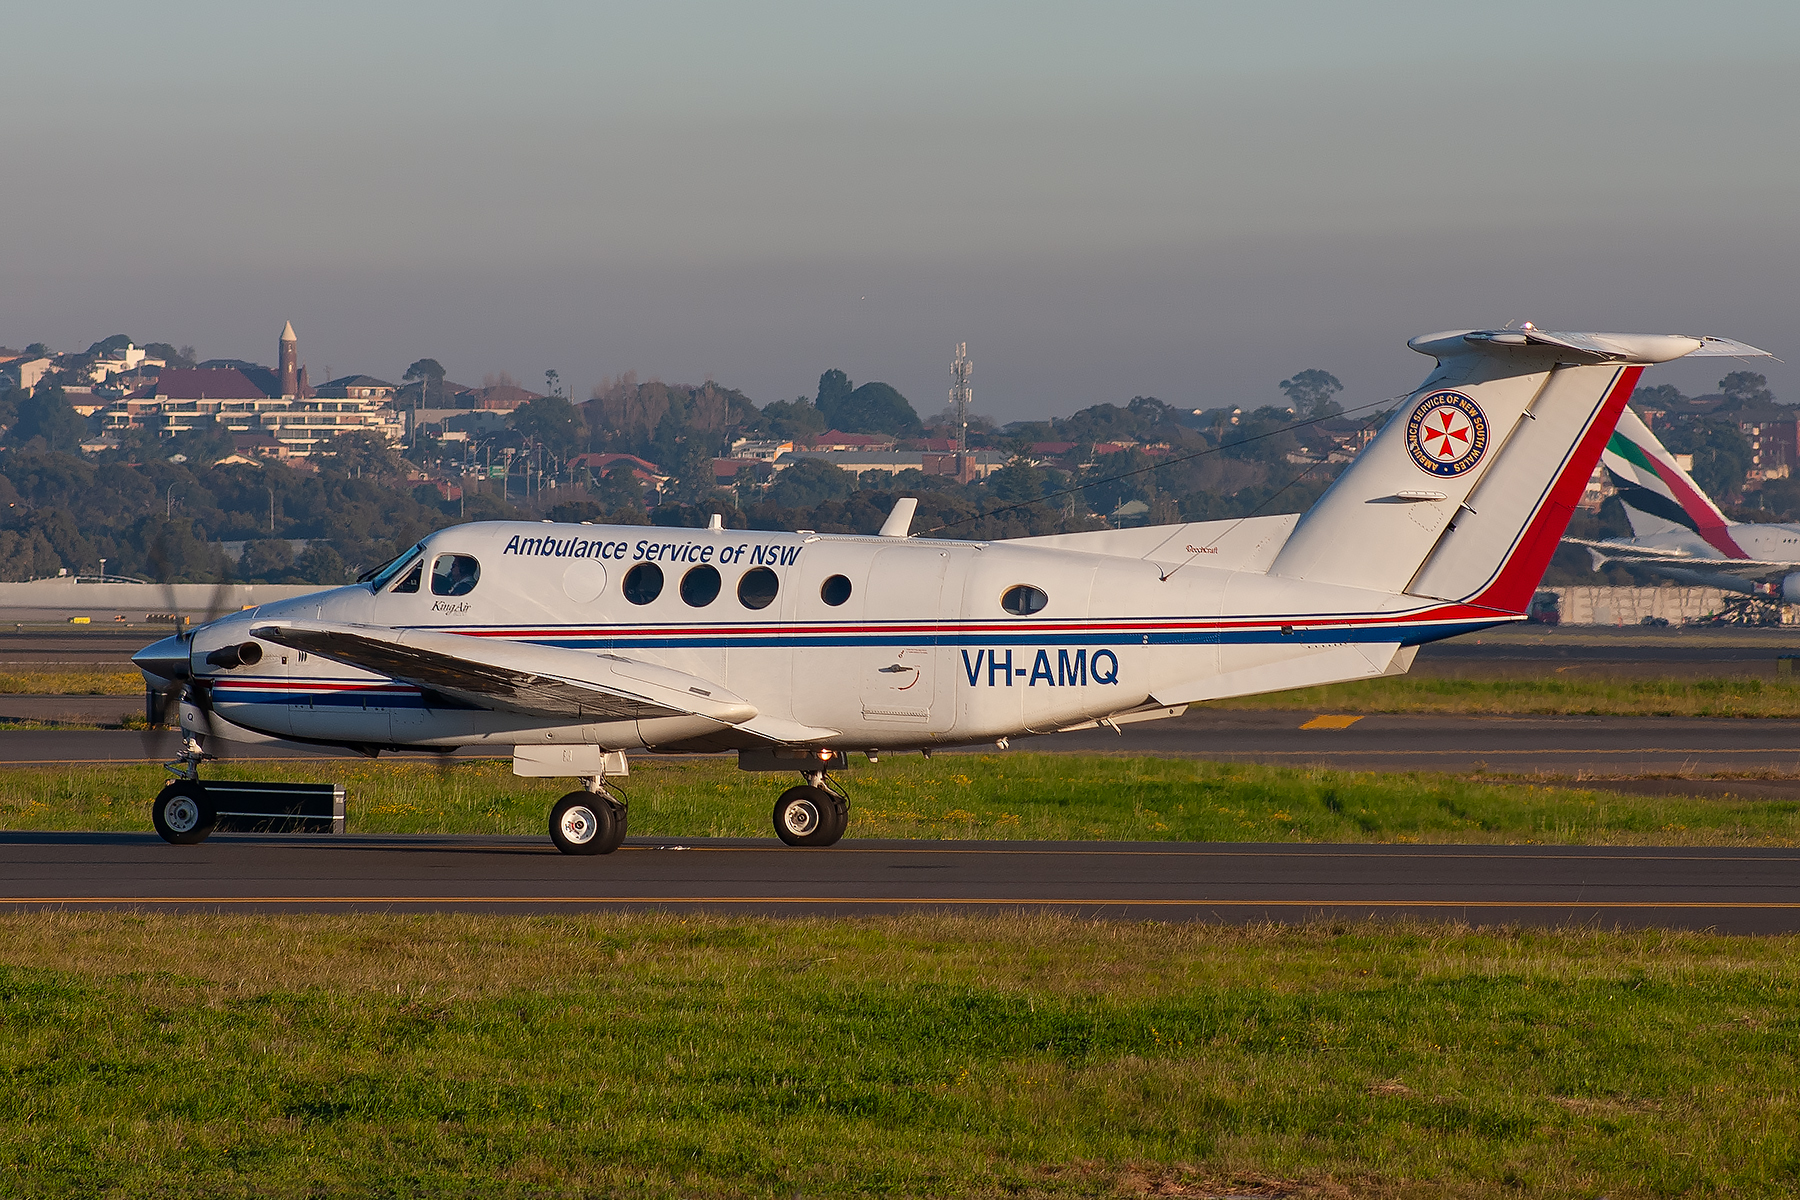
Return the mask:
<path id="1" fill-rule="evenodd" d="M 175 842 L 212 828 L 212 739 L 508 747 L 583 788 L 551 838 L 625 837 L 626 750 L 797 770 L 776 833 L 830 846 L 851 750 L 1006 745 L 1224 696 L 1404 673 L 1417 648 L 1521 621 L 1645 363 L 1719 338 L 1456 331 L 1305 515 L 1010 542 L 484 522 L 364 583 L 261 604 L 133 662 L 180 691 Z"/>

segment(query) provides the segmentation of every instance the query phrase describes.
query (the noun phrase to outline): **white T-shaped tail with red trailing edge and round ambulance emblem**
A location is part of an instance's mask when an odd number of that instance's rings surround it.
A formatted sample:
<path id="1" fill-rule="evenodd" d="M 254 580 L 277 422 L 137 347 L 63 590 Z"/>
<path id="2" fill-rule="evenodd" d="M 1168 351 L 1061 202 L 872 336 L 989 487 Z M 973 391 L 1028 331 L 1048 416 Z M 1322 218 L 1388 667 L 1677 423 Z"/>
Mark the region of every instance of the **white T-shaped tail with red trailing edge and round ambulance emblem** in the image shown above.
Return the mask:
<path id="1" fill-rule="evenodd" d="M 1764 354 L 1715 338 L 1498 329 L 1438 360 L 1300 518 L 1271 576 L 1523 613 L 1643 365 Z"/>

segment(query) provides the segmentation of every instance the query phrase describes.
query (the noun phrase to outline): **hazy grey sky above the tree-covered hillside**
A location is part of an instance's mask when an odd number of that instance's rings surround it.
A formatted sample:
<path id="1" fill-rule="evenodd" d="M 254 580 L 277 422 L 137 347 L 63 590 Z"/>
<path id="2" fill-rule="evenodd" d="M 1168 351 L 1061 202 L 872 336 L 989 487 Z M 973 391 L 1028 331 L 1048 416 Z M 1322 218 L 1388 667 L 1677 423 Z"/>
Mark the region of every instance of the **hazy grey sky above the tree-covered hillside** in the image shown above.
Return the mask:
<path id="1" fill-rule="evenodd" d="M 18 9 L 20 5 L 14 5 Z M 40 4 L 0 344 L 554 367 L 999 421 L 1348 401 L 1408 336 L 1800 360 L 1793 4 Z M 1730 362 L 1645 381 L 1708 390 Z M 1800 399 L 1800 371 L 1757 367 Z"/>

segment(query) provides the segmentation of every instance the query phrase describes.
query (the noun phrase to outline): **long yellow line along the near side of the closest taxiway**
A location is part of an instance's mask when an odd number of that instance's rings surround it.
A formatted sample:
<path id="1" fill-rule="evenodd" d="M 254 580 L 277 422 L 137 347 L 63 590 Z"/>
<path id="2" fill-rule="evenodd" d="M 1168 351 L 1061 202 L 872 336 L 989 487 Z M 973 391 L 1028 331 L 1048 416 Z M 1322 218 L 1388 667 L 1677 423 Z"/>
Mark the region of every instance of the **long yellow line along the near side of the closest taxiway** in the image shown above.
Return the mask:
<path id="1" fill-rule="evenodd" d="M 1800 910 L 1757 900 L 1057 900 L 1039 896 L 11 896 L 0 905 L 1013 905 L 1156 909 L 1706 909 Z"/>

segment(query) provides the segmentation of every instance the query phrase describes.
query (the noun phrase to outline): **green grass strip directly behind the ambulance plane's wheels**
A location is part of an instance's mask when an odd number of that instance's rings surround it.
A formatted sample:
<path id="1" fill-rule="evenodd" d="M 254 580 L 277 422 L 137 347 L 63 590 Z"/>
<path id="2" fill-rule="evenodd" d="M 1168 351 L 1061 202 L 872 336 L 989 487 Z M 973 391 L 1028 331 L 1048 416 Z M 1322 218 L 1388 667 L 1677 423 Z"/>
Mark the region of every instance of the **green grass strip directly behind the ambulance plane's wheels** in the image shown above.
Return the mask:
<path id="1" fill-rule="evenodd" d="M 518 779 L 509 761 L 234 763 L 239 779 L 344 783 L 356 833 L 542 835 L 569 781 Z M 1222 842 L 1561 842 L 1791 846 L 1800 801 L 1625 795 L 1454 775 L 1377 775 L 1249 763 L 1071 754 L 940 754 L 857 765 L 850 837 Z M 0 770 L 0 828 L 148 829 L 153 766 Z M 632 831 L 770 837 L 788 775 L 733 759 L 634 759 Z"/>

